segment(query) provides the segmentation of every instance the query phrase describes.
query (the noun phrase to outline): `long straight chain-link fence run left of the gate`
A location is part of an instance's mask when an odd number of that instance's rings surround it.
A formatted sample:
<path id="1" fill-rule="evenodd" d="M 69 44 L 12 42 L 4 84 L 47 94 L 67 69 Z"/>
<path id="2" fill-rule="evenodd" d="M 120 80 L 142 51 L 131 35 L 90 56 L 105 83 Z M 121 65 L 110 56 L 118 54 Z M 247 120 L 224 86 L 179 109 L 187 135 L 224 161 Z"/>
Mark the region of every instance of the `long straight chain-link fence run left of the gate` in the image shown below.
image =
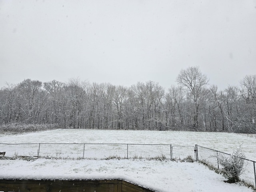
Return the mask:
<path id="1" fill-rule="evenodd" d="M 170 159 L 169 144 L 0 144 L 5 156 L 58 159 L 148 158 Z"/>

